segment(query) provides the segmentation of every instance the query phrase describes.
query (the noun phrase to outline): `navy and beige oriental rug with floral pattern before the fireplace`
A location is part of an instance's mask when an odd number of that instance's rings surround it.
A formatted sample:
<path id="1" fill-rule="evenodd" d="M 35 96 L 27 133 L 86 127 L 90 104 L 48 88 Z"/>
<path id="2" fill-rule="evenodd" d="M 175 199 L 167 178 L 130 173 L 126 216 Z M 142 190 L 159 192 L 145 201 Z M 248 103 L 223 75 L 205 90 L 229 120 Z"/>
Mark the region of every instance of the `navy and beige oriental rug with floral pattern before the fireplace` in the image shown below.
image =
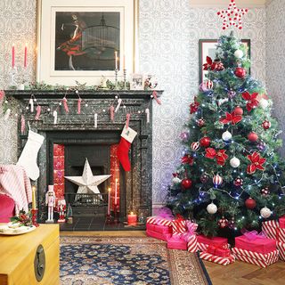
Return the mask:
<path id="1" fill-rule="evenodd" d="M 148 237 L 62 237 L 62 285 L 208 285 L 196 254 Z"/>

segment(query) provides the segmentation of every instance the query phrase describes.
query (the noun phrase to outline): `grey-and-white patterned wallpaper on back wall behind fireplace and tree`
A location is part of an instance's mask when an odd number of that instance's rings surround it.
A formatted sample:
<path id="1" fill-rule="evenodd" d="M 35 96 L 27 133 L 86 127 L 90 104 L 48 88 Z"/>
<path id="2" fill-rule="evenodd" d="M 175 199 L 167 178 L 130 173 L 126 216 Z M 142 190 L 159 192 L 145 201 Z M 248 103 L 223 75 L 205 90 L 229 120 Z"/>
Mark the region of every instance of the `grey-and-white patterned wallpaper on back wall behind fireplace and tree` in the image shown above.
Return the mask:
<path id="1" fill-rule="evenodd" d="M 29 49 L 28 79 L 35 78 L 36 0 L 0 1 L 0 87 L 9 85 L 11 47 Z M 159 77 L 165 90 L 162 101 L 154 104 L 153 126 L 153 204 L 165 199 L 171 174 L 179 163 L 182 148 L 179 134 L 188 118 L 188 106 L 198 90 L 199 38 L 217 38 L 221 22 L 216 9 L 191 8 L 191 0 L 140 0 L 140 71 Z M 251 9 L 245 17 L 240 37 L 250 38 L 252 73 L 265 80 L 265 8 Z M 22 52 L 23 53 L 23 52 Z M 16 53 L 18 64 L 23 55 Z M 7 63 L 7 64 L 6 64 Z M 7 128 L 0 118 L 0 163 L 16 161 L 15 123 Z M 7 145 L 9 145 L 7 149 Z M 14 147 L 12 147 L 12 145 Z"/>

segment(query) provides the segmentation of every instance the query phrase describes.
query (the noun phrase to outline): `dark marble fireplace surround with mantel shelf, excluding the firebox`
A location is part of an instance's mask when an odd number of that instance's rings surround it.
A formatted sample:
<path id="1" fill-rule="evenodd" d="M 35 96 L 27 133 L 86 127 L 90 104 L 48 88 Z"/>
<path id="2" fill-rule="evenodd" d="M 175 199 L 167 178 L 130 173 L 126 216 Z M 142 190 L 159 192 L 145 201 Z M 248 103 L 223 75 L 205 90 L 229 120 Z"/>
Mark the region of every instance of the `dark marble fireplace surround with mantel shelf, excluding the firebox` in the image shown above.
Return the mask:
<path id="1" fill-rule="evenodd" d="M 20 110 L 24 112 L 26 126 L 33 131 L 45 136 L 45 142 L 38 153 L 38 166 L 40 168 L 40 177 L 37 180 L 37 205 L 39 205 L 39 221 L 44 222 L 46 218 L 45 191 L 46 185 L 53 184 L 53 175 L 51 175 L 51 166 L 53 162 L 52 143 L 56 142 L 53 135 L 69 131 L 75 134 L 85 134 L 81 143 L 93 143 L 89 137 L 94 137 L 95 132 L 110 134 L 114 131 L 117 136 L 125 125 L 126 110 L 131 112 L 129 126 L 138 133 L 131 146 L 131 164 L 130 172 L 120 171 L 120 221 L 126 220 L 126 215 L 130 211 L 135 211 L 139 216 L 151 216 L 152 209 L 152 120 L 150 124 L 146 121 L 145 114 L 142 113 L 146 108 L 150 109 L 152 115 L 152 97 L 151 91 L 80 91 L 82 98 L 81 114 L 77 115 L 77 94 L 74 91 L 6 91 L 6 95 L 12 96 L 20 104 Z M 162 92 L 158 92 L 160 95 Z M 37 103 L 42 107 L 42 114 L 39 120 L 35 119 L 35 112 L 27 110 L 28 100 L 34 94 Z M 63 106 L 59 102 L 67 94 L 69 104 L 69 114 L 66 114 Z M 116 107 L 117 100 L 115 96 L 122 99 L 122 105 L 118 113 L 115 114 L 114 122 L 110 121 L 110 105 L 113 103 Z M 151 103 L 150 103 L 151 102 Z M 35 104 L 37 104 L 35 103 Z M 87 104 L 87 106 L 86 106 Z M 124 108 L 126 106 L 126 109 Z M 36 105 L 35 105 L 36 106 Z M 53 110 L 58 107 L 58 123 L 53 124 Z M 47 109 L 50 108 L 50 112 Z M 99 114 L 98 127 L 94 128 L 95 110 L 106 110 Z M 139 113 L 141 111 L 141 113 Z M 151 116 L 152 117 L 152 116 Z M 20 118 L 19 118 L 20 120 Z M 18 156 L 24 147 L 28 129 L 25 134 L 20 134 L 19 122 Z M 83 133 L 82 133 L 83 132 Z M 91 135 L 90 135 L 91 134 Z M 72 141 L 72 135 L 69 136 Z M 67 138 L 64 142 L 67 142 Z M 47 140 L 46 140 L 47 139 Z M 56 142 L 57 143 L 57 142 Z"/>

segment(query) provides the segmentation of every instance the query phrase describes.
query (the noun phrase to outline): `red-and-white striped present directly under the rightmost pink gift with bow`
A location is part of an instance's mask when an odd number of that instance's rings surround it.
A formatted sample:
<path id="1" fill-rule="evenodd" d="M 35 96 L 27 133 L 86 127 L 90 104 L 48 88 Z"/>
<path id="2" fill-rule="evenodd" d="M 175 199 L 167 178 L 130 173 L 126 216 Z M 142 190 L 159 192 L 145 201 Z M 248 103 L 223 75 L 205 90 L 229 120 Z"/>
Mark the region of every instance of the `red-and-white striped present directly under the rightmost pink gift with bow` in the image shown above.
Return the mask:
<path id="1" fill-rule="evenodd" d="M 232 248 L 232 253 L 236 259 L 249 264 L 267 267 L 278 261 L 279 251 L 277 249 L 266 254 L 246 250 L 242 248 Z"/>

